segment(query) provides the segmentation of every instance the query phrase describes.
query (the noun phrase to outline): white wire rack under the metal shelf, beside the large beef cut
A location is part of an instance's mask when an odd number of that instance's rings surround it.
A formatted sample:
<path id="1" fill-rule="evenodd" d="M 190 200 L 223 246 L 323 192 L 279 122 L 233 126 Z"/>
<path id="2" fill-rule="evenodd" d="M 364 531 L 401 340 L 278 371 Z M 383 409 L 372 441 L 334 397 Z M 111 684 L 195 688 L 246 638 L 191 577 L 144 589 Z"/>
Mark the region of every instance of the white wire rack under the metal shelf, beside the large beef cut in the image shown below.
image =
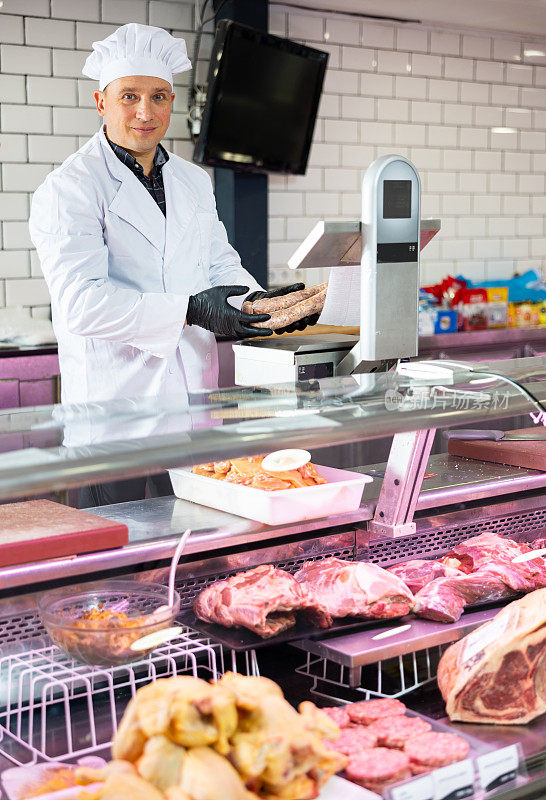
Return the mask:
<path id="1" fill-rule="evenodd" d="M 438 662 L 448 645 L 429 647 L 366 667 L 346 667 L 330 659 L 307 654 L 296 672 L 312 680 L 311 694 L 344 702 L 356 697 L 404 697 L 435 680 Z"/>

